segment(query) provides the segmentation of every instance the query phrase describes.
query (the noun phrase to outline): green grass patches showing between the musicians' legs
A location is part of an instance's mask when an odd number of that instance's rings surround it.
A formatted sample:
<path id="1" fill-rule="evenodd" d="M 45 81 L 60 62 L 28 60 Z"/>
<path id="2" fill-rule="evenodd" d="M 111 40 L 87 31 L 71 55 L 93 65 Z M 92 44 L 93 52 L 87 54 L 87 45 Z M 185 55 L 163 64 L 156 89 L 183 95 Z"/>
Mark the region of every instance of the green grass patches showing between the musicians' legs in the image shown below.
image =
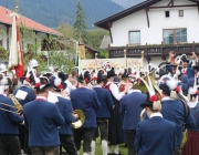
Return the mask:
<path id="1" fill-rule="evenodd" d="M 81 152 L 81 155 L 82 155 L 83 154 L 82 147 L 81 147 L 80 152 Z M 127 147 L 125 146 L 125 144 L 119 145 L 119 152 L 122 153 L 122 155 L 127 155 L 128 154 L 128 151 L 127 151 Z M 101 138 L 96 140 L 95 155 L 102 155 Z"/>

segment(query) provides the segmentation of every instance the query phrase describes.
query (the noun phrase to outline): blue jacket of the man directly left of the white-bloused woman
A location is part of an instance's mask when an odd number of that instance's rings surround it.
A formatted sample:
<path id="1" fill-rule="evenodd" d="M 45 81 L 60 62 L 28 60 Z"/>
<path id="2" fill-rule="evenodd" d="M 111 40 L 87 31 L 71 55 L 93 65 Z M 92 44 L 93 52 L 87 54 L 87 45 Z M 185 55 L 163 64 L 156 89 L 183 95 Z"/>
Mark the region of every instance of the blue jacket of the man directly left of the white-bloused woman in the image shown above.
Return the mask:
<path id="1" fill-rule="evenodd" d="M 93 90 L 96 92 L 98 102 L 101 103 L 101 108 L 95 111 L 96 117 L 111 117 L 109 112 L 114 103 L 109 91 L 102 87 L 94 87 Z"/>

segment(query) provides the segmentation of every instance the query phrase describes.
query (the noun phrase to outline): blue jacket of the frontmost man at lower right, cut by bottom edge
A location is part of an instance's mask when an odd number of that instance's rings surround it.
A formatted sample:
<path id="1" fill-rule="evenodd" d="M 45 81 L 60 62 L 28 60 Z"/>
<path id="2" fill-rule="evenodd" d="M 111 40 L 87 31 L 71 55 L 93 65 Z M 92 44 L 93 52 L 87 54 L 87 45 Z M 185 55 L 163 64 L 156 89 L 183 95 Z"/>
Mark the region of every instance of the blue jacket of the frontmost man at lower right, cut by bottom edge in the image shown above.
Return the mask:
<path id="1" fill-rule="evenodd" d="M 136 130 L 137 155 L 172 155 L 176 124 L 160 116 L 139 122 Z"/>

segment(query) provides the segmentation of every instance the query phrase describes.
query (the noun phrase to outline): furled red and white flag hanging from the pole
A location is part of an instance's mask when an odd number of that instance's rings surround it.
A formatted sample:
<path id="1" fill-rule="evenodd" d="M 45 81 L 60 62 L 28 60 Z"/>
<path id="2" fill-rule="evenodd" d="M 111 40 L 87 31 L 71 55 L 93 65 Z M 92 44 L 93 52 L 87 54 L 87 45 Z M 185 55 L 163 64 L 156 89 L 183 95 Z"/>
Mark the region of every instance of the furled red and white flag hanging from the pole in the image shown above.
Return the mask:
<path id="1" fill-rule="evenodd" d="M 24 62 L 20 41 L 20 31 L 17 24 L 17 19 L 19 18 L 19 16 L 17 13 L 11 13 L 10 17 L 12 18 L 12 33 L 8 68 L 10 70 L 15 70 L 17 78 L 22 78 L 24 74 Z"/>

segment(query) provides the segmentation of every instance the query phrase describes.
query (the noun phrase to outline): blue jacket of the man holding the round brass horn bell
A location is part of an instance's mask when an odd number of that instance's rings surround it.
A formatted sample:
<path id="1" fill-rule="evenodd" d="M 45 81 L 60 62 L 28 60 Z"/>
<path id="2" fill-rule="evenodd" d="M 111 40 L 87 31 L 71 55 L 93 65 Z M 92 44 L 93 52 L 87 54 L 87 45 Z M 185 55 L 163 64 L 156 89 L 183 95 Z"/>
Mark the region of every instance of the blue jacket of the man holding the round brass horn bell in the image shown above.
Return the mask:
<path id="1" fill-rule="evenodd" d="M 71 101 L 60 97 L 60 96 L 57 99 L 59 99 L 59 102 L 56 102 L 56 105 L 62 116 L 65 118 L 65 124 L 61 128 L 59 128 L 59 133 L 72 135 L 73 132 L 72 132 L 70 123 L 74 122 L 75 117 L 72 115 L 73 107 L 72 107 Z"/>

